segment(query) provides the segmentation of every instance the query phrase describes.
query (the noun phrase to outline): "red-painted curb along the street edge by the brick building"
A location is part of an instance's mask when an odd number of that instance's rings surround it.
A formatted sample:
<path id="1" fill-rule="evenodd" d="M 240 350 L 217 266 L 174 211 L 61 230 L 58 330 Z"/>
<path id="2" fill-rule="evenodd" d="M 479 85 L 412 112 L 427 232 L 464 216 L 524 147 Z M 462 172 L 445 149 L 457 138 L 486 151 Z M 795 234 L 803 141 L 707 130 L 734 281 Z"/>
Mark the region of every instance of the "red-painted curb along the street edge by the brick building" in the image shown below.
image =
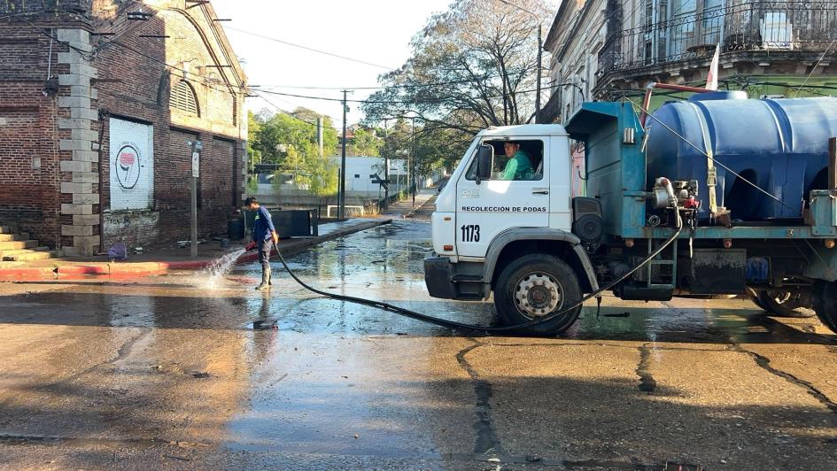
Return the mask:
<path id="1" fill-rule="evenodd" d="M 390 224 L 391 219 L 373 220 L 360 223 L 349 228 L 337 229 L 336 231 L 322 236 L 307 239 L 293 239 L 285 246 L 280 247 L 283 256 L 294 255 L 320 243 L 351 235 L 356 232 Z M 282 243 L 280 242 L 280 245 Z M 273 254 L 276 253 L 274 248 Z M 259 259 L 259 254 L 250 252 L 244 253 L 236 264 L 247 263 Z M 166 274 L 174 270 L 201 270 L 212 266 L 215 259 L 205 260 L 175 260 L 171 262 L 124 262 L 124 263 L 93 263 L 89 265 L 58 265 L 58 266 L 15 266 L 0 268 L 0 282 L 20 281 L 25 279 L 55 279 L 63 276 L 78 275 L 120 275 L 126 276 L 147 276 L 151 274 Z"/>

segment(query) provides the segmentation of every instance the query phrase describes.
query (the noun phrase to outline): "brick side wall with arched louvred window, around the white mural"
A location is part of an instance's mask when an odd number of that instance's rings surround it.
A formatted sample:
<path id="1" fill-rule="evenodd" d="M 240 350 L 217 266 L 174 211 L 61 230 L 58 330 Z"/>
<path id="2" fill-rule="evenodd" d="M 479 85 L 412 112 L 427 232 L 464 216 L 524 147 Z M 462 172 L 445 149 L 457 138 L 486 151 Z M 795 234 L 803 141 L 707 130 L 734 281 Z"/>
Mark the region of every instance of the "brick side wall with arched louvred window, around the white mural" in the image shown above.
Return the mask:
<path id="1" fill-rule="evenodd" d="M 234 201 L 240 199 L 234 192 L 243 186 L 243 181 L 239 181 L 240 172 L 238 175 L 235 172 L 240 168 L 236 159 L 242 157 L 236 149 L 241 149 L 244 133 L 240 119 L 244 97 L 242 89 L 226 85 L 229 78 L 221 74 L 229 76 L 230 71 L 211 67 L 227 64 L 222 44 L 207 33 L 213 27 L 209 18 L 205 10 L 195 8 L 189 12 L 157 12 L 153 19 L 138 26 L 118 22 L 113 26 L 117 31 L 120 27 L 133 29 L 129 35 L 120 36 L 120 42 L 127 48 L 114 46 L 97 61 L 99 70 L 108 73 L 107 86 L 99 86 L 100 105 L 112 115 L 118 110 L 120 118 L 142 120 L 154 127 L 154 204 L 148 213 L 156 218 L 145 213 L 134 212 L 133 216 L 127 213 L 128 220 L 136 220 L 130 224 L 131 230 L 106 234 L 105 243 L 126 238 L 134 230 L 154 234 L 143 227 L 154 221 L 159 240 L 189 238 L 191 149 L 187 142 L 195 140 L 203 144 L 198 181 L 198 234 L 206 237 L 226 233 L 227 215 Z M 128 48 L 142 50 L 146 57 Z M 219 61 L 223 64 L 218 64 Z M 169 106 L 172 90 L 183 80 L 194 89 L 198 115 Z M 110 147 L 103 145 L 105 150 Z M 109 161 L 104 157 L 103 160 Z M 105 173 L 111 171 L 109 167 Z M 109 189 L 103 192 L 108 201 Z"/>

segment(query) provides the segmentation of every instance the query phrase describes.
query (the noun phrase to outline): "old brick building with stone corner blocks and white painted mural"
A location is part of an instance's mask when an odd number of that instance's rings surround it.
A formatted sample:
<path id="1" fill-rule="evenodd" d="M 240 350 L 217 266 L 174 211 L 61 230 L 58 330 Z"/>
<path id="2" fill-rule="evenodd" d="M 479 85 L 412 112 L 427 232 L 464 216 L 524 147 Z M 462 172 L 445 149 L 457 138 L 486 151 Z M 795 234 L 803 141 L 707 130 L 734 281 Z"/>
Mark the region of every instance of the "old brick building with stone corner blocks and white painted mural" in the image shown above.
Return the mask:
<path id="1" fill-rule="evenodd" d="M 0 223 L 69 254 L 225 233 L 245 76 L 208 3 L 0 0 Z M 2 224 L 0 224 L 2 225 Z"/>

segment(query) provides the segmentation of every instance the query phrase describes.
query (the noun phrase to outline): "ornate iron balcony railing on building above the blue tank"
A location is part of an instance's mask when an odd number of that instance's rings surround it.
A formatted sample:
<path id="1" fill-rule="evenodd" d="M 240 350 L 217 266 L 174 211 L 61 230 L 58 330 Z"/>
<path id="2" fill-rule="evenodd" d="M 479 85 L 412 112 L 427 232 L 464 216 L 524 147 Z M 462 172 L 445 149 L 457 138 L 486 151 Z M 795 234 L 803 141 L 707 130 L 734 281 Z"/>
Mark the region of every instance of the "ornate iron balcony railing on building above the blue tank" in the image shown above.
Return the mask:
<path id="1" fill-rule="evenodd" d="M 655 0 L 656 1 L 656 0 Z M 730 2 L 732 3 L 732 2 Z M 599 71 L 628 71 L 703 58 L 721 51 L 830 50 L 837 41 L 837 2 L 727 4 L 612 35 L 599 53 Z"/>

